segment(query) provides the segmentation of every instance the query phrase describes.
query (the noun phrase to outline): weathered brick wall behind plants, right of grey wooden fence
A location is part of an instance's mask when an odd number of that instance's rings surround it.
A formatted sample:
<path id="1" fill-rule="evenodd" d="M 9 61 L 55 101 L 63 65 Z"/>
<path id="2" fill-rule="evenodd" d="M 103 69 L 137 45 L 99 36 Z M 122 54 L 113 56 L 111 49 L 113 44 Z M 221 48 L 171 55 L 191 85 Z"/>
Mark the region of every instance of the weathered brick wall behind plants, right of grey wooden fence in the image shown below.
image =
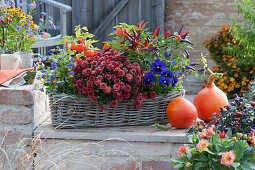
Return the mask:
<path id="1" fill-rule="evenodd" d="M 218 32 L 223 24 L 231 24 L 231 18 L 237 17 L 233 0 L 166 0 L 165 31 L 177 32 L 184 24 L 183 32 L 191 31 L 194 49 L 189 51 L 194 60 L 194 57 L 201 56 L 201 52 L 209 56 L 202 45 L 204 40 Z M 208 62 L 213 65 L 211 60 Z"/>

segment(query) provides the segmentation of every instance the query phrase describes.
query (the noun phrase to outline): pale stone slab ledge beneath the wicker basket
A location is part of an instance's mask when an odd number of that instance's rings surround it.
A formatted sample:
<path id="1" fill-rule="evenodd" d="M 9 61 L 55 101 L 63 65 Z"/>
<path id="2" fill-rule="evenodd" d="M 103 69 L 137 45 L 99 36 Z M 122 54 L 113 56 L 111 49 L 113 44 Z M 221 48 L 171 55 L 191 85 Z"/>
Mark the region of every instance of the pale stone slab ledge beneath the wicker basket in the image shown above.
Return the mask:
<path id="1" fill-rule="evenodd" d="M 188 138 L 184 129 L 172 128 L 162 131 L 148 126 L 124 126 L 106 128 L 84 129 L 56 129 L 50 121 L 43 123 L 35 131 L 34 135 L 40 134 L 41 138 L 47 139 L 76 139 L 76 140 L 105 140 L 109 138 L 122 139 L 132 142 L 167 142 L 187 143 Z"/>

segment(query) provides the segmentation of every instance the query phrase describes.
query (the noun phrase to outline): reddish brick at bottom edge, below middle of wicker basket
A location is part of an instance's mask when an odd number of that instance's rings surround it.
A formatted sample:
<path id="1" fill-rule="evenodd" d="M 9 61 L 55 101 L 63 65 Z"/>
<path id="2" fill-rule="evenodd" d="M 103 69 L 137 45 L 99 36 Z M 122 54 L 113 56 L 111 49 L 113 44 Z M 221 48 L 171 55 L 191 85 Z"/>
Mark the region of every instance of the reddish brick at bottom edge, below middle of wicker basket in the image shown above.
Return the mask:
<path id="1" fill-rule="evenodd" d="M 139 165 L 134 161 L 122 164 L 106 164 L 101 170 L 139 170 Z"/>

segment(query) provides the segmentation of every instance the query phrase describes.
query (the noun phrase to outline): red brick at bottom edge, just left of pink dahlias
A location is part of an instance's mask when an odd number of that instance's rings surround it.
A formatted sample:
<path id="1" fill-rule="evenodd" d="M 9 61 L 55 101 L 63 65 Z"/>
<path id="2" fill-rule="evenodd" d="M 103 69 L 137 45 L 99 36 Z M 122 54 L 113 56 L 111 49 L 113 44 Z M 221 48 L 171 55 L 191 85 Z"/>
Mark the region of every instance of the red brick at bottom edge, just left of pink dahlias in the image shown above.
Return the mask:
<path id="1" fill-rule="evenodd" d="M 169 161 L 144 161 L 142 162 L 142 170 L 172 170 L 173 165 Z"/>

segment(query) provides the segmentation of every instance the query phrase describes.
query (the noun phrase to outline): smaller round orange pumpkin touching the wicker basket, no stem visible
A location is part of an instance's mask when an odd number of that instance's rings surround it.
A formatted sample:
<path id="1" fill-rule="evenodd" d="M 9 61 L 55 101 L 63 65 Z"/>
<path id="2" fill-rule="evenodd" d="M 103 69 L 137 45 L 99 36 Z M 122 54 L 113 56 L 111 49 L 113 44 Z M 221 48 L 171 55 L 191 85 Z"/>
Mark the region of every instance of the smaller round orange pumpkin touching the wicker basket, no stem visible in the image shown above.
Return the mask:
<path id="1" fill-rule="evenodd" d="M 183 97 L 174 98 L 166 109 L 167 118 L 173 127 L 189 128 L 197 120 L 197 109 Z"/>

